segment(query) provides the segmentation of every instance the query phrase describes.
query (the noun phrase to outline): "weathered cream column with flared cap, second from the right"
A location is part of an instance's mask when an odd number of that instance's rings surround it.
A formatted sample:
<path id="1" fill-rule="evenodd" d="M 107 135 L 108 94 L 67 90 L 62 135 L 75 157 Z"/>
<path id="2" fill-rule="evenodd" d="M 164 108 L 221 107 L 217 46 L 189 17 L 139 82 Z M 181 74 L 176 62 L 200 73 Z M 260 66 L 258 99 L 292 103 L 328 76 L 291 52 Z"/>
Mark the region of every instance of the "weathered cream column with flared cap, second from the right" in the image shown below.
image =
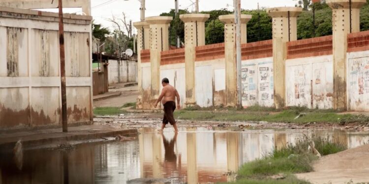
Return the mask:
<path id="1" fill-rule="evenodd" d="M 299 7 L 268 8 L 273 18 L 273 73 L 274 103 L 276 108 L 285 105 L 285 61 L 287 58 L 287 42 L 297 40 L 297 16 L 302 12 Z"/>

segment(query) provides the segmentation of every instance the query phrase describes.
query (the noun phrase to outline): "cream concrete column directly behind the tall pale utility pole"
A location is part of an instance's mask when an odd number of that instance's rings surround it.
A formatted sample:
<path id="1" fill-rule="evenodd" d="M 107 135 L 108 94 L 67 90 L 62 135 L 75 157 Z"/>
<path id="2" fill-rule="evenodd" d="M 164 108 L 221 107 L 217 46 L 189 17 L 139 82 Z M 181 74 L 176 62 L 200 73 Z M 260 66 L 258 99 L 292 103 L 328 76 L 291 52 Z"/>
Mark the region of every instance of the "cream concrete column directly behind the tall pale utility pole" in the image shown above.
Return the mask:
<path id="1" fill-rule="evenodd" d="M 251 15 L 241 15 L 241 43 L 247 42 L 246 24 Z M 224 23 L 226 106 L 237 105 L 236 25 L 234 15 L 221 15 Z"/>

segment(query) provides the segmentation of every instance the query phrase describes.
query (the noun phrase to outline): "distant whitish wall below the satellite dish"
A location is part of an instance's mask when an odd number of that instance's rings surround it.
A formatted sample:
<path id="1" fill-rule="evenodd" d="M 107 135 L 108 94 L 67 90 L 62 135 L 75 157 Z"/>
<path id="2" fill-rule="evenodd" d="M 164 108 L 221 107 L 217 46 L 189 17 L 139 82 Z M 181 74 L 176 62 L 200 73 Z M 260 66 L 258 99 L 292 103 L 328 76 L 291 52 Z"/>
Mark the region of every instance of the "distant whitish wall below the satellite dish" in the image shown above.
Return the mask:
<path id="1" fill-rule="evenodd" d="M 122 60 L 118 64 L 118 60 L 109 59 L 108 80 L 109 84 L 120 82 L 136 82 L 137 81 L 137 62 Z M 120 70 L 120 71 L 119 71 Z M 118 79 L 120 76 L 120 80 Z"/>

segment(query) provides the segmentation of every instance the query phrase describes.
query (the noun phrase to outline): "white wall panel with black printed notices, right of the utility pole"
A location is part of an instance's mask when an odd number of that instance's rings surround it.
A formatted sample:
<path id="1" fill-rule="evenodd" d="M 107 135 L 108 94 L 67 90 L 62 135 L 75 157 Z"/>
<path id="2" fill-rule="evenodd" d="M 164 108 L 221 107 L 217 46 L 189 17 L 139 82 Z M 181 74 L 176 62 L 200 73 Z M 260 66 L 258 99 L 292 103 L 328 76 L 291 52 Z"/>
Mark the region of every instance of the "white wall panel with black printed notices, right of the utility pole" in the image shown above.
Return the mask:
<path id="1" fill-rule="evenodd" d="M 273 58 L 242 61 L 242 105 L 273 106 Z"/>

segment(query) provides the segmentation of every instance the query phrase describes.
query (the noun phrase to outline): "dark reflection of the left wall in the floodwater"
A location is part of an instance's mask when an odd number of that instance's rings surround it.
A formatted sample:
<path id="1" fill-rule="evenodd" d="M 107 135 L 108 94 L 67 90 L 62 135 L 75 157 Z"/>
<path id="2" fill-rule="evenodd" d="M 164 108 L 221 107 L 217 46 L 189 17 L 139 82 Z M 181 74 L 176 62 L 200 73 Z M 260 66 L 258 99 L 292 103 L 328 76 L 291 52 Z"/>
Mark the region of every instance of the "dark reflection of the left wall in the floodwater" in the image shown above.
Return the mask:
<path id="1" fill-rule="evenodd" d="M 19 170 L 12 155 L 1 155 L 1 184 L 71 184 L 94 183 L 93 147 L 79 147 L 71 151 L 25 151 L 23 167 Z M 64 172 L 65 171 L 65 172 Z"/>

